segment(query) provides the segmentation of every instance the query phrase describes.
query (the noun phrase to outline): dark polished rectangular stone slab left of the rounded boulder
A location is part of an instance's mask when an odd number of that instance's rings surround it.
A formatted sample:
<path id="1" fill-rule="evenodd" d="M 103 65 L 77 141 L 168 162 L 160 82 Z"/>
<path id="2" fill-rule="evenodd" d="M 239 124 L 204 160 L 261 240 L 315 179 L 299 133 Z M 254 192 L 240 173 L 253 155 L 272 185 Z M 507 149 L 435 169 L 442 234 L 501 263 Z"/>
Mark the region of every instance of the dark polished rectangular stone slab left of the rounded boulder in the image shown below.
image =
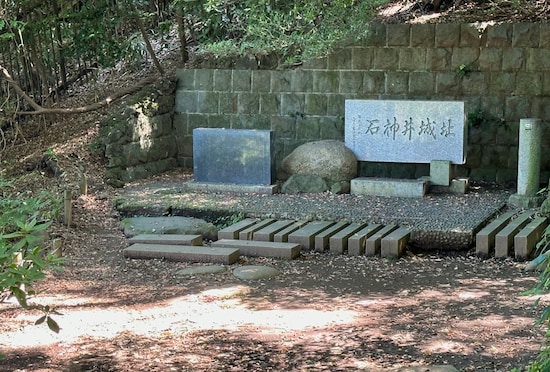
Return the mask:
<path id="1" fill-rule="evenodd" d="M 193 176 L 197 182 L 271 185 L 274 159 L 273 131 L 193 130 Z"/>

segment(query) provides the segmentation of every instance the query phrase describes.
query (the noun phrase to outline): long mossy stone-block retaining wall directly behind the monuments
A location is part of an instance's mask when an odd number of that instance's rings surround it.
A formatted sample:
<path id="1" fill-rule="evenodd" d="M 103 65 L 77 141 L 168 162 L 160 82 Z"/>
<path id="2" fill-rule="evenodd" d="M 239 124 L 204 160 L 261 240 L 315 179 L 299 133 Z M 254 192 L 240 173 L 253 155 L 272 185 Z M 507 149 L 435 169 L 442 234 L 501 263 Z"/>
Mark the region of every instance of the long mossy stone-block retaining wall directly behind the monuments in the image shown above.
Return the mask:
<path id="1" fill-rule="evenodd" d="M 367 38 L 292 70 L 181 69 L 177 163 L 192 167 L 198 127 L 271 129 L 276 164 L 300 144 L 344 139 L 346 99 L 463 100 L 471 114 L 460 176 L 517 179 L 519 120 L 542 119 L 550 175 L 550 24 L 374 24 Z M 416 177 L 425 164 L 364 163 L 360 176 Z"/>

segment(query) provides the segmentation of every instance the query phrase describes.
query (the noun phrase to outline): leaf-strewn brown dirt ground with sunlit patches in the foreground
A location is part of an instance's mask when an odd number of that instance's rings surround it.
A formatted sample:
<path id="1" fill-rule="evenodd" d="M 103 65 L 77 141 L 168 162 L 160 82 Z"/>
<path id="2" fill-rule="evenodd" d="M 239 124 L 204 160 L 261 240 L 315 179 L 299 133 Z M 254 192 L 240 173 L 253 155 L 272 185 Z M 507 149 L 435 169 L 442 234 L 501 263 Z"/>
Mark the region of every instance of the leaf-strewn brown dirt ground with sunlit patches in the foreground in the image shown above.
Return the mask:
<path id="1" fill-rule="evenodd" d="M 66 268 L 34 299 L 58 307 L 62 330 L 0 304 L 2 371 L 508 371 L 542 342 L 540 308 L 519 295 L 536 278 L 512 260 L 305 254 L 182 277 L 191 264 L 122 257 L 127 243 L 107 199 L 81 196 L 75 210 L 75 226 L 59 232 Z M 231 273 L 242 264 L 282 275 L 244 282 Z"/>

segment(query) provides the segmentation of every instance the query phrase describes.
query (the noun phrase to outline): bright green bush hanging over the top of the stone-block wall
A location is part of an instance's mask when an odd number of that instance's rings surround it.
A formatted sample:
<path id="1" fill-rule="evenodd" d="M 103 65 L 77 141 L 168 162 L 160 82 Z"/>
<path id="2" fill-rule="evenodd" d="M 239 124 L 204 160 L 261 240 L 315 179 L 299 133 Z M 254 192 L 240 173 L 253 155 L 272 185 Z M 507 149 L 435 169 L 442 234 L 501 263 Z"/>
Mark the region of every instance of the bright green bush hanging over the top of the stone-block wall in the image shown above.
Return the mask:
<path id="1" fill-rule="evenodd" d="M 179 0 L 199 50 L 221 55 L 277 53 L 298 63 L 328 53 L 335 43 L 368 33 L 374 9 L 387 0 Z"/>

